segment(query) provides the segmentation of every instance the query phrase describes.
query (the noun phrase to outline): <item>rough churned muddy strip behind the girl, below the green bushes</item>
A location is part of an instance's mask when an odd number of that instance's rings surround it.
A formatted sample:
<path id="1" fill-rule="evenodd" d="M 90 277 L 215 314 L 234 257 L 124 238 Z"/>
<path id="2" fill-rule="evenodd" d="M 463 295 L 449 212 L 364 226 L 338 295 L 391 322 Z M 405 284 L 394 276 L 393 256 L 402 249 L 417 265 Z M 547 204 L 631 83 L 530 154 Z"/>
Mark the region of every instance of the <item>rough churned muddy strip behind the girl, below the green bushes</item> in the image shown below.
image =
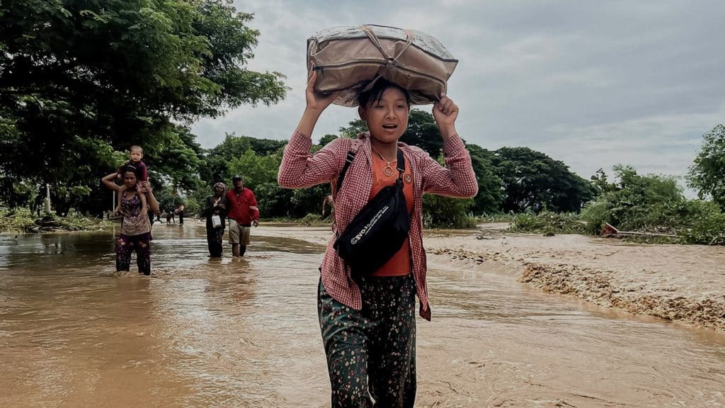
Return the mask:
<path id="1" fill-rule="evenodd" d="M 542 237 L 503 232 L 506 224 L 476 230 L 433 230 L 431 256 L 471 264 L 504 264 L 519 282 L 600 306 L 725 332 L 725 248 L 639 245 L 568 234 Z M 325 228 L 294 228 L 300 239 L 323 244 Z M 273 234 L 289 234 L 286 228 Z"/>

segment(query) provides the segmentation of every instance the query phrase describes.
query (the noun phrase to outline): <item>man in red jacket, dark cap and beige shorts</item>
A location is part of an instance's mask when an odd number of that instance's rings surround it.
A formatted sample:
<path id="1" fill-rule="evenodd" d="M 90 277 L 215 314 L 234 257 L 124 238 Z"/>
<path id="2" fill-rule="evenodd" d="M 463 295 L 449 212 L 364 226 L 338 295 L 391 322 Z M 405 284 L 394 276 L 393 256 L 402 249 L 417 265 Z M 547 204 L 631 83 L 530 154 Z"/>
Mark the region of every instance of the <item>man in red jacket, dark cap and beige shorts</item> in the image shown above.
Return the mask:
<path id="1" fill-rule="evenodd" d="M 244 256 L 249 245 L 249 230 L 260 224 L 260 210 L 254 192 L 244 187 L 244 181 L 237 174 L 232 179 L 233 188 L 226 194 L 229 212 L 229 242 L 231 253 L 237 258 Z"/>

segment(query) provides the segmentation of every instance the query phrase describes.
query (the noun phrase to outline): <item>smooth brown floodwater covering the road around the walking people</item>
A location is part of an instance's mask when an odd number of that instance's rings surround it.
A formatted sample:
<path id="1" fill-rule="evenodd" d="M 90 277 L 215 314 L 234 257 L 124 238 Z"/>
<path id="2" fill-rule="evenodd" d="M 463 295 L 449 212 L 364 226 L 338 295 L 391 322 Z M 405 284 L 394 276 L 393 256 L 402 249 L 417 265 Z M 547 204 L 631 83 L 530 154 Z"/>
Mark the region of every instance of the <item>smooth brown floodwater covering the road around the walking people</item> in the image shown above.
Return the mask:
<path id="1" fill-rule="evenodd" d="M 323 245 L 252 230 L 211 260 L 202 224 L 154 225 L 152 273 L 117 232 L 0 237 L 0 407 L 327 407 Z M 417 407 L 725 407 L 725 335 L 429 259 Z"/>

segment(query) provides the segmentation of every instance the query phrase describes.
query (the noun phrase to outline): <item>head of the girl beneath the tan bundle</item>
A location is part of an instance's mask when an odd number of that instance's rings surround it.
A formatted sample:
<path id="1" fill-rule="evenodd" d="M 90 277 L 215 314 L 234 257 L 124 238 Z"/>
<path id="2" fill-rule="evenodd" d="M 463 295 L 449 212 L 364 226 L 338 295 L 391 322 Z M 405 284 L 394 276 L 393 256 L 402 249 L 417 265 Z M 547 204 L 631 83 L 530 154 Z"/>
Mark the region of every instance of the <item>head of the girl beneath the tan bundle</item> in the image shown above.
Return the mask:
<path id="1" fill-rule="evenodd" d="M 410 113 L 407 90 L 380 78 L 370 90 L 360 94 L 357 102 L 360 119 L 368 123 L 370 136 L 378 142 L 397 142 L 405 132 Z"/>

